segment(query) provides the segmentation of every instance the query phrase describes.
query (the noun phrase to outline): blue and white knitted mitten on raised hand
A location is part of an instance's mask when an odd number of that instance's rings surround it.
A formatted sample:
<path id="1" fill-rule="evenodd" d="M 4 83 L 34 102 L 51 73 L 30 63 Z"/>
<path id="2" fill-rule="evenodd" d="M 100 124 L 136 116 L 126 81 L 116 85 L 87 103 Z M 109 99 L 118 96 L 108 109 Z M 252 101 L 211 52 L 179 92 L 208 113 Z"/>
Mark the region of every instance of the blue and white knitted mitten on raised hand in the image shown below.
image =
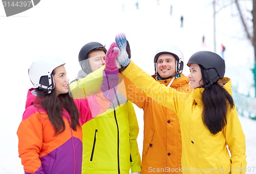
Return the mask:
<path id="1" fill-rule="evenodd" d="M 118 68 L 121 68 L 122 67 L 126 67 L 129 65 L 130 63 L 130 55 L 131 53 L 127 53 L 126 51 L 126 47 L 129 46 L 129 49 L 130 50 L 130 45 L 128 43 L 127 45 L 127 40 L 126 40 L 126 36 L 124 33 L 119 33 L 116 35 L 116 44 L 118 45 L 118 48 L 115 47 L 114 50 L 118 49 L 119 51 L 119 54 L 117 56 L 117 67 Z M 130 55 L 129 55 L 130 54 Z"/>

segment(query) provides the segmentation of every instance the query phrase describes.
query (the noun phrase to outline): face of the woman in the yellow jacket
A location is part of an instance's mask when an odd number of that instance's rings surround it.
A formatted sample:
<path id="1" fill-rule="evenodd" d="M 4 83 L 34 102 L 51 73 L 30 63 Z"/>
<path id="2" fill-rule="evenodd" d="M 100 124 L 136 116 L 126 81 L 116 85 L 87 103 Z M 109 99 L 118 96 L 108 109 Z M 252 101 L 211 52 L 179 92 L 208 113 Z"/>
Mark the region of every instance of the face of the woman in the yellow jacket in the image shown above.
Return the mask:
<path id="1" fill-rule="evenodd" d="M 188 79 L 190 80 L 190 88 L 198 88 L 204 85 L 201 68 L 197 63 L 190 64 Z"/>

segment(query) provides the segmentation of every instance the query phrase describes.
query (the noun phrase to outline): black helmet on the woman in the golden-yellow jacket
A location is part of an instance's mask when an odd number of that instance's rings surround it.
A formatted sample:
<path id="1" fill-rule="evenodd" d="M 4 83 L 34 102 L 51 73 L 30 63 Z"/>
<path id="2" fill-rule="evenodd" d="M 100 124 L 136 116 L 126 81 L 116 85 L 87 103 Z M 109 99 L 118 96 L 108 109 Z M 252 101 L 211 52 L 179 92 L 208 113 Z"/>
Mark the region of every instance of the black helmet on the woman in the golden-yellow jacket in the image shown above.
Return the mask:
<path id="1" fill-rule="evenodd" d="M 224 78 L 225 61 L 216 53 L 207 51 L 197 52 L 189 58 L 187 66 L 190 66 L 191 63 L 201 65 L 205 85 L 212 85 L 219 79 Z"/>

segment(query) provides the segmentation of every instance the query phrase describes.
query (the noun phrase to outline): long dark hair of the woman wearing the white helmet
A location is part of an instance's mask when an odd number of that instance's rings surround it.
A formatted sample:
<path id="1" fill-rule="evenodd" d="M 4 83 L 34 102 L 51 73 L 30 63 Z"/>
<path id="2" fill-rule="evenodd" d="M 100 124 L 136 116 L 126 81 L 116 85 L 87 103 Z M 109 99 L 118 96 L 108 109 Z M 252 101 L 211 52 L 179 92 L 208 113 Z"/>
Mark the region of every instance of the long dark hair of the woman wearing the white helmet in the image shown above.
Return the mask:
<path id="1" fill-rule="evenodd" d="M 54 73 L 55 72 L 53 70 L 52 74 L 54 75 Z M 66 129 L 65 122 L 62 117 L 63 109 L 65 109 L 70 115 L 70 120 L 68 119 L 68 121 L 71 125 L 71 128 L 74 131 L 77 130 L 77 126 L 80 126 L 80 113 L 69 93 L 59 94 L 57 96 L 55 88 L 51 91 L 50 94 L 47 94 L 46 90 L 39 90 L 38 88 L 36 88 L 36 91 L 37 97 L 34 104 L 37 104 L 35 105 L 36 107 L 43 108 L 47 111 L 49 119 L 55 130 L 55 135 L 62 133 Z"/>

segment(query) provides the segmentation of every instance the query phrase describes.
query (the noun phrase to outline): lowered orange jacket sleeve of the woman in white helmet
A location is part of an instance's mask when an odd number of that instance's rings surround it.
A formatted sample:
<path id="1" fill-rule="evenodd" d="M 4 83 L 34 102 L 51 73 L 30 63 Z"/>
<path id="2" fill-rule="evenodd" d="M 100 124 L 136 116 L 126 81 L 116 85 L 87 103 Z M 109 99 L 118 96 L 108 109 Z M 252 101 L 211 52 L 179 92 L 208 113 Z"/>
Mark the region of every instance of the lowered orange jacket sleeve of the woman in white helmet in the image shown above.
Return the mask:
<path id="1" fill-rule="evenodd" d="M 42 124 L 36 113 L 28 108 L 17 130 L 18 153 L 25 173 L 43 174 L 39 153 L 42 147 Z M 26 118 L 26 119 L 25 119 Z"/>

